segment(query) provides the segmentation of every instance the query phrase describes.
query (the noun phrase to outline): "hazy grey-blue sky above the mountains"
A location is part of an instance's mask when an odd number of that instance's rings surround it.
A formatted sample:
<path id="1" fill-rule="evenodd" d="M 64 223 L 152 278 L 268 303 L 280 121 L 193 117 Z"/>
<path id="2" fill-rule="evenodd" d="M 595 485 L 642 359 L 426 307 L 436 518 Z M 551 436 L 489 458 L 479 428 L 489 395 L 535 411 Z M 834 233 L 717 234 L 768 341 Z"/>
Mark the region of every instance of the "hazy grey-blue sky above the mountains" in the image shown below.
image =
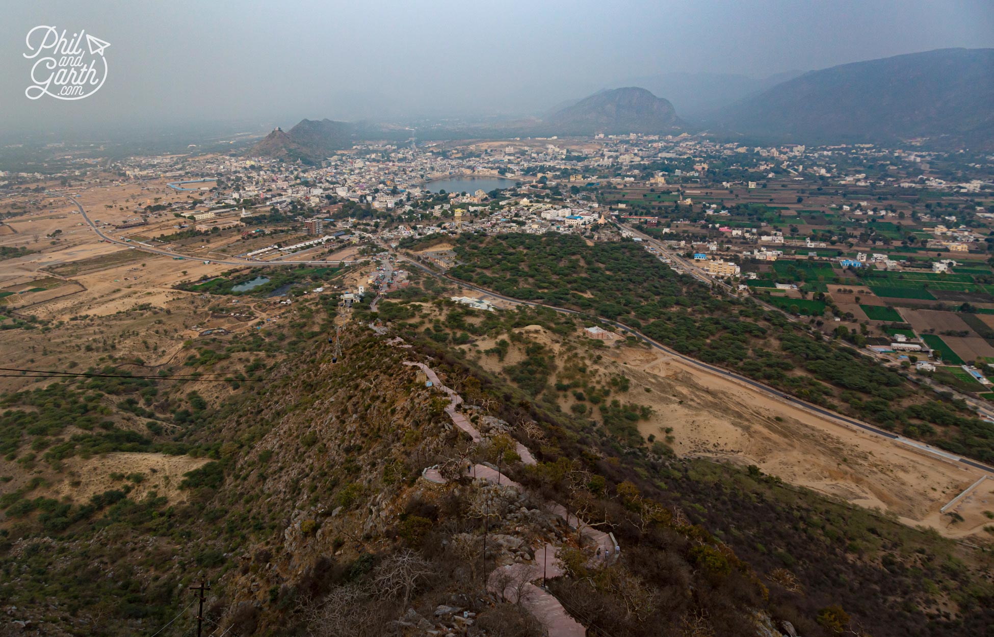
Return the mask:
<path id="1" fill-rule="evenodd" d="M 110 43 L 96 93 L 25 96 L 38 25 Z M 657 74 L 762 78 L 947 47 L 994 47 L 994 2 L 2 0 L 0 133 L 529 114 Z"/>

